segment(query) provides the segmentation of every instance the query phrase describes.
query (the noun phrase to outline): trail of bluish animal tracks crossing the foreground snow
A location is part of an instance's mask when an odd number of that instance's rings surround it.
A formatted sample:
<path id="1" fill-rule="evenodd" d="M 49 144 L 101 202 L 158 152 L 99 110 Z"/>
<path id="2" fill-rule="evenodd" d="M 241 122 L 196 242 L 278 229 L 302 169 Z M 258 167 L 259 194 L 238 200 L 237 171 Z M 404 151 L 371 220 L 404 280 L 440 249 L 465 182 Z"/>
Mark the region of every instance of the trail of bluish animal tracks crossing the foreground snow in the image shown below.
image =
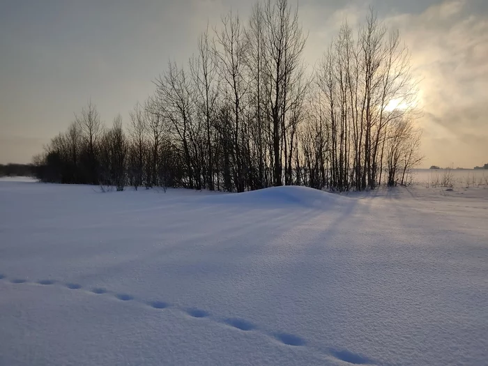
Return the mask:
<path id="1" fill-rule="evenodd" d="M 24 283 L 30 283 L 27 282 L 27 280 L 23 278 L 12 278 L 8 279 L 6 275 L 3 275 L 3 273 L 0 273 L 0 280 L 5 280 L 9 281 L 13 284 L 24 284 Z M 71 290 L 77 290 L 77 289 L 82 289 L 81 284 L 77 284 L 74 282 L 68 282 L 62 284 L 62 282 L 55 281 L 55 280 L 40 280 L 38 282 L 35 282 L 36 284 L 43 284 L 43 285 L 55 285 L 55 284 L 61 284 L 61 286 L 71 289 Z M 165 303 L 164 301 L 160 300 L 153 300 L 153 301 L 142 301 L 140 299 L 135 299 L 134 296 L 128 294 L 128 293 L 114 293 L 114 292 L 109 292 L 107 289 L 103 287 L 93 287 L 93 289 L 89 291 L 83 291 L 84 293 L 96 293 L 96 294 L 102 294 L 102 293 L 112 293 L 115 298 L 126 302 L 129 300 L 134 300 L 135 303 L 143 303 L 145 305 L 149 305 L 150 307 L 153 307 L 153 309 L 157 310 L 163 310 L 166 309 L 167 307 L 171 307 L 169 303 Z M 264 330 L 261 327 L 255 326 L 253 323 L 250 321 L 247 321 L 245 319 L 241 318 L 227 318 L 227 319 L 216 319 L 211 317 L 211 314 L 206 312 L 205 310 L 198 309 L 197 307 L 192 307 L 192 308 L 187 308 L 187 309 L 182 309 L 178 307 L 174 307 L 175 309 L 181 310 L 182 312 L 185 312 L 188 314 L 190 317 L 193 318 L 209 318 L 212 321 L 217 321 L 217 322 L 222 322 L 225 323 L 227 326 L 231 326 L 233 328 L 236 328 L 238 330 L 243 330 L 243 331 L 250 331 L 250 330 L 257 330 L 262 334 L 268 335 L 269 337 L 272 337 L 273 339 L 277 340 L 278 342 L 282 343 L 284 346 L 307 346 L 307 341 L 303 339 L 302 337 L 299 337 L 298 335 L 293 335 L 290 333 L 268 333 L 266 330 Z M 366 358 L 365 356 L 360 356 L 356 353 L 353 353 L 351 351 L 347 351 L 345 349 L 314 349 L 317 353 L 322 354 L 323 356 L 326 356 L 327 358 L 334 358 L 335 360 L 340 360 L 346 363 L 350 363 L 352 365 L 372 365 L 373 361 L 369 358 Z"/>

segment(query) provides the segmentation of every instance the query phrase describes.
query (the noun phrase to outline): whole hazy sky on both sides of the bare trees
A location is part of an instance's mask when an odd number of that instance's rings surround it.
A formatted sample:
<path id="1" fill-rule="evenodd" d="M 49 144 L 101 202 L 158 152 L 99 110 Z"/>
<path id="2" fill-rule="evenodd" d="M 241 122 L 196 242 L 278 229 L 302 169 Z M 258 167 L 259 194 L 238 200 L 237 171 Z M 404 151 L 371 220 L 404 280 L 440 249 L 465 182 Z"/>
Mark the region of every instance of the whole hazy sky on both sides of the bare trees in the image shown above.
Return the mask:
<path id="1" fill-rule="evenodd" d="M 0 0 L 0 163 L 30 162 L 91 100 L 105 123 L 154 91 L 168 61 L 185 63 L 207 24 L 254 0 Z M 291 1 L 295 3 L 295 1 Z M 398 29 L 420 79 L 422 167 L 488 162 L 487 0 L 300 0 L 317 62 L 346 19 L 373 6 Z"/>

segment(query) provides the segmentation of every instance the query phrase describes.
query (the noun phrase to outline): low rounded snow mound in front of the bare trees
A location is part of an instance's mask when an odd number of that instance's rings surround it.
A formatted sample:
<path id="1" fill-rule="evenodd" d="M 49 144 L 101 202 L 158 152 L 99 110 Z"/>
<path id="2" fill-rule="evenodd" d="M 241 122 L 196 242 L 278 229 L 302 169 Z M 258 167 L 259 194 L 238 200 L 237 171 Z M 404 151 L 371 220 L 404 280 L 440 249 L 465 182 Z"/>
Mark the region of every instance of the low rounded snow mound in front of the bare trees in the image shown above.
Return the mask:
<path id="1" fill-rule="evenodd" d="M 205 197 L 206 203 L 239 204 L 250 206 L 298 206 L 307 208 L 328 208 L 350 203 L 351 199 L 313 188 L 286 185 L 264 188 L 250 192 Z"/>

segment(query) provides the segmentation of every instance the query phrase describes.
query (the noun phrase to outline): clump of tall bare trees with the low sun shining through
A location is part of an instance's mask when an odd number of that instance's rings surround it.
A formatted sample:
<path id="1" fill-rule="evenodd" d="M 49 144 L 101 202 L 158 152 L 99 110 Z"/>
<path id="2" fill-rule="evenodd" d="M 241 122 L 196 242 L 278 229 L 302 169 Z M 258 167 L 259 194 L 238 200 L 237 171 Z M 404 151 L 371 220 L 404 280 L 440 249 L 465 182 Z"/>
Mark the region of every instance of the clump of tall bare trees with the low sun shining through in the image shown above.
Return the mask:
<path id="1" fill-rule="evenodd" d="M 417 165 L 416 83 L 409 51 L 374 13 L 358 29 L 344 24 L 317 73 L 321 102 L 313 110 L 328 128 L 329 184 L 339 190 L 374 189 L 386 170 L 388 185 L 404 183 Z"/>

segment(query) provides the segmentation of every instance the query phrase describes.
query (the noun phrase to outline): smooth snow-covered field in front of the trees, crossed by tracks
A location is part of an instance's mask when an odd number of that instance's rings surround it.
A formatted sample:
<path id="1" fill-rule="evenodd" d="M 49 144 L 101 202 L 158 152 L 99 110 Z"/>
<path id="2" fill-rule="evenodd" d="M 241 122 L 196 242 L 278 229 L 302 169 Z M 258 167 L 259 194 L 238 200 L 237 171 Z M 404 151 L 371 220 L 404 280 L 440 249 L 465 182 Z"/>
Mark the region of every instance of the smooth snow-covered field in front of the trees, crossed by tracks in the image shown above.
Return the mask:
<path id="1" fill-rule="evenodd" d="M 0 181 L 0 365 L 488 365 L 488 188 Z"/>

